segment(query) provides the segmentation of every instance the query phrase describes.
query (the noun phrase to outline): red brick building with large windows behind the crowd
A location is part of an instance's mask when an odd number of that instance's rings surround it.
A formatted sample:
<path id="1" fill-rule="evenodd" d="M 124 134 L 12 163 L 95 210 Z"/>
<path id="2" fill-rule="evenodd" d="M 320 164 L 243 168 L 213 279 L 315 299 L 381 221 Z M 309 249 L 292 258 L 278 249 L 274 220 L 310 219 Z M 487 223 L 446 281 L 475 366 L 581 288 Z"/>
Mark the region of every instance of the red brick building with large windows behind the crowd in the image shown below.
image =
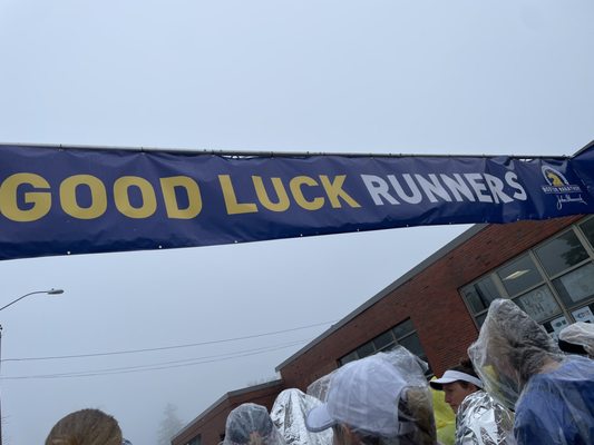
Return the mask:
<path id="1" fill-rule="evenodd" d="M 473 226 L 280 364 L 280 380 L 228 393 L 172 444 L 216 445 L 235 406 L 270 409 L 282 389 L 305 390 L 342 364 L 396 344 L 440 375 L 465 355 L 499 296 L 552 335 L 576 320 L 594 323 L 594 217 Z"/>

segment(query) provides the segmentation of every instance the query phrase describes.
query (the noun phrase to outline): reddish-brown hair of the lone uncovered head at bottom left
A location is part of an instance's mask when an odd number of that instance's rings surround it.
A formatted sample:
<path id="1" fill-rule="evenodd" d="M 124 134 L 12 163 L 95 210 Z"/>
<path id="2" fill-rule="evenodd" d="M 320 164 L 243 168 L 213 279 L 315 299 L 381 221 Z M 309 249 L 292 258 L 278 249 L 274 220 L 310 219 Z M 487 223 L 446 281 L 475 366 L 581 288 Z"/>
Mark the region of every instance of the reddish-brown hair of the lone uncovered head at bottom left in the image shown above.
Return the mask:
<path id="1" fill-rule="evenodd" d="M 121 429 L 103 411 L 80 409 L 53 425 L 46 445 L 121 445 Z"/>

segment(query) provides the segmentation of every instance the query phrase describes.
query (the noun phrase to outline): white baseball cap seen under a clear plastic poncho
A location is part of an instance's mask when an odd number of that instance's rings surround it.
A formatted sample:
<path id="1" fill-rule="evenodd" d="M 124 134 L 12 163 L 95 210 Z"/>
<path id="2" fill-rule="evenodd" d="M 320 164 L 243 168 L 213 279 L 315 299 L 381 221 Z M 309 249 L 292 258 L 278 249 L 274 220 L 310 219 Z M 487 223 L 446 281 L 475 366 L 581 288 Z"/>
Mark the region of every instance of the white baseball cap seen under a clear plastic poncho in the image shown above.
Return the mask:
<path id="1" fill-rule="evenodd" d="M 400 395 L 410 384 L 383 355 L 351 362 L 337 369 L 325 403 L 308 414 L 306 428 L 318 433 L 342 423 L 383 437 L 410 432 L 410 425 L 398 419 Z"/>

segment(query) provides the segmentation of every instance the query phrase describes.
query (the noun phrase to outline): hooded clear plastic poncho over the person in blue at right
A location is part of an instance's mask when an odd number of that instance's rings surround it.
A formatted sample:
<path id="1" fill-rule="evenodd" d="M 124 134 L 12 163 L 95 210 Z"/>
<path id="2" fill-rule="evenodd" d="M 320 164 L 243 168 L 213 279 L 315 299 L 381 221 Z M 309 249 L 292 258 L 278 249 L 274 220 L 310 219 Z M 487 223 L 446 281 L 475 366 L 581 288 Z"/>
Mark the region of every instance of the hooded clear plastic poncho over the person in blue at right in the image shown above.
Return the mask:
<path id="1" fill-rule="evenodd" d="M 594 443 L 594 360 L 564 356 L 513 301 L 491 303 L 468 355 L 486 389 L 515 409 L 518 444 Z"/>

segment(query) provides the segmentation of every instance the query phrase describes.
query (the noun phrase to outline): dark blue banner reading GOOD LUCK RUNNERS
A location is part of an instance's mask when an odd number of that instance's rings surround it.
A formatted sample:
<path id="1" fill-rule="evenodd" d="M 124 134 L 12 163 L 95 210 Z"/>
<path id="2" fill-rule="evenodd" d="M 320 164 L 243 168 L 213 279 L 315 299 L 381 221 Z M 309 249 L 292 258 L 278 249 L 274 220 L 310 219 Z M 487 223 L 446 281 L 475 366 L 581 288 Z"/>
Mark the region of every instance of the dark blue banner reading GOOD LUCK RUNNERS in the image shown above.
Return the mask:
<path id="1" fill-rule="evenodd" d="M 0 146 L 0 259 L 592 214 L 592 164 Z"/>

